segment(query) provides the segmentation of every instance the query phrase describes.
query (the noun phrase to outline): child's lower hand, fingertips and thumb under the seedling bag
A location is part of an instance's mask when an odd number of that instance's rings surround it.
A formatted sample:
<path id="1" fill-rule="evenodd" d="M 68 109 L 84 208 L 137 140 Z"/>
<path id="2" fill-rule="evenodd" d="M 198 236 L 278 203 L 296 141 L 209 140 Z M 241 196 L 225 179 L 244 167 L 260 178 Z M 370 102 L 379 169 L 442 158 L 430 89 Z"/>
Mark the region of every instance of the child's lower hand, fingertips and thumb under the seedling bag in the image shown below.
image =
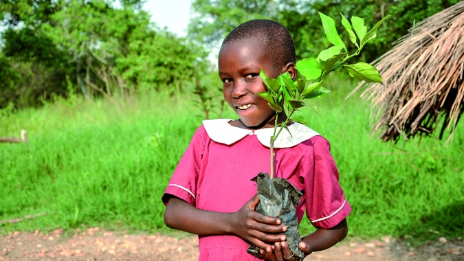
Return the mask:
<path id="1" fill-rule="evenodd" d="M 305 253 L 305 256 L 312 253 L 311 247 L 305 242 L 300 242 L 298 247 Z M 261 249 L 261 256 L 263 256 L 264 260 L 269 261 L 296 261 L 293 252 L 289 249 L 289 245 L 285 241 L 275 242 L 274 246 L 267 246 L 265 249 Z"/>

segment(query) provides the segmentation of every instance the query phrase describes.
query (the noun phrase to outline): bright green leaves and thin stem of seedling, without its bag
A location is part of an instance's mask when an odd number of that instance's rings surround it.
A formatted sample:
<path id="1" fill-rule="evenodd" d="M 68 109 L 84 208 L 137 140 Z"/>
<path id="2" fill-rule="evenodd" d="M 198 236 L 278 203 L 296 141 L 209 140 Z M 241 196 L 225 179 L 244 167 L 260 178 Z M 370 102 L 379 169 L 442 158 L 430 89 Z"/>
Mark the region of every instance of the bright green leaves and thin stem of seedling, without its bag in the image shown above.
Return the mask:
<path id="1" fill-rule="evenodd" d="M 290 120 L 306 124 L 307 120 L 302 115 L 292 117 L 294 113 L 300 111 L 300 108 L 307 105 L 304 100 L 321 99 L 330 91 L 322 87 L 325 76 L 337 69 L 344 67 L 349 75 L 353 78 L 365 80 L 366 82 L 382 83 L 382 77 L 375 67 L 368 63 L 356 63 L 353 65 L 346 64 L 346 61 L 360 54 L 362 47 L 377 36 L 377 29 L 382 22 L 388 17 L 379 21 L 371 30 L 367 30 L 364 25 L 364 19 L 353 16 L 351 23 L 342 15 L 342 24 L 346 32 L 349 32 L 350 41 L 357 47 L 353 54 L 349 54 L 346 45 L 340 38 L 335 21 L 322 12 L 319 12 L 322 20 L 322 27 L 327 36 L 327 40 L 333 45 L 328 49 L 320 52 L 318 58 L 305 58 L 296 63 L 295 68 L 298 70 L 298 75 L 294 80 L 291 79 L 289 72 L 280 74 L 276 79 L 268 78 L 265 71 L 261 69 L 261 80 L 266 84 L 267 91 L 256 93 L 261 98 L 265 99 L 269 107 L 276 111 L 276 120 L 274 125 L 274 133 L 271 137 L 271 178 L 274 177 L 274 141 L 276 141 L 280 132 L 287 128 Z M 354 32 L 353 32 L 354 30 Z M 357 40 L 356 36 L 359 38 Z M 316 106 L 313 107 L 319 113 Z M 286 119 L 278 124 L 279 113 L 285 111 Z M 277 131 L 278 129 L 278 131 Z"/>

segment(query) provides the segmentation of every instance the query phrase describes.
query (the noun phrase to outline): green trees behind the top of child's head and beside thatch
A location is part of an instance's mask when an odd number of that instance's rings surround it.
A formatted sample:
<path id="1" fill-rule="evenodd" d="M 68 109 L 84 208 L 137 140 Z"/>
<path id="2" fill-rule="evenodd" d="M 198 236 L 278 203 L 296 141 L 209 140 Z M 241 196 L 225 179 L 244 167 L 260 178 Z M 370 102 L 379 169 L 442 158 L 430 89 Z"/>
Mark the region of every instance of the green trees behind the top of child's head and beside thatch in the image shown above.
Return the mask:
<path id="1" fill-rule="evenodd" d="M 208 1 L 196 0 L 192 9 L 197 16 L 190 21 L 189 34 L 201 43 L 217 43 L 234 27 L 250 19 L 274 19 L 291 33 L 296 46 L 297 58 L 316 56 L 321 47 L 329 47 L 320 28 L 317 12 L 336 17 L 357 14 L 366 19 L 366 25 L 374 25 L 385 16 L 391 19 L 379 27 L 379 37 L 366 46 L 360 60 L 371 62 L 392 47 L 397 38 L 408 32 L 415 22 L 454 5 L 459 0 L 415 1 L 415 0 L 274 0 L 274 1 Z M 240 16 L 237 16 L 240 14 Z M 338 27 L 340 30 L 340 26 Z M 349 34 L 340 37 L 349 41 Z M 355 47 L 350 47 L 353 52 Z M 356 60 L 356 58 L 355 58 Z"/>

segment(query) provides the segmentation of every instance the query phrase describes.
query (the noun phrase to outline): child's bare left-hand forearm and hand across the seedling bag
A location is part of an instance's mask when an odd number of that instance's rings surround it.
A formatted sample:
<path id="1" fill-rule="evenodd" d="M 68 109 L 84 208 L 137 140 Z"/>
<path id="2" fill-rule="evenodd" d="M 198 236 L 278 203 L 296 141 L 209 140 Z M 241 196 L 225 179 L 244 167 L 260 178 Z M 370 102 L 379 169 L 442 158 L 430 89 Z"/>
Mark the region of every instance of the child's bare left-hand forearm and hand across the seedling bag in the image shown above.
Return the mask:
<path id="1" fill-rule="evenodd" d="M 235 234 L 260 249 L 269 246 L 265 242 L 285 241 L 284 235 L 275 234 L 283 233 L 287 227 L 280 225 L 278 218 L 255 212 L 258 202 L 256 195 L 239 211 L 221 213 L 198 209 L 173 196 L 166 205 L 164 223 L 170 228 L 197 235 Z"/>

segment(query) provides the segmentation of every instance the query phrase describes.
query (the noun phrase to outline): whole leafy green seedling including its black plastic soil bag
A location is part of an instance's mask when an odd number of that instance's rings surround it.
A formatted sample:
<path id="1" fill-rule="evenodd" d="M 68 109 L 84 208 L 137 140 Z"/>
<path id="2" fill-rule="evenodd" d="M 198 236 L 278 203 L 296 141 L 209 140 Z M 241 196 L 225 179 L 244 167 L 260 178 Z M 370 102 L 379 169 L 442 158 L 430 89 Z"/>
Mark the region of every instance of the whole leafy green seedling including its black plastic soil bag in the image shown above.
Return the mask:
<path id="1" fill-rule="evenodd" d="M 282 221 L 282 224 L 287 226 L 287 231 L 284 234 L 287 236 L 289 249 L 294 253 L 293 256 L 296 260 L 305 258 L 304 253 L 298 248 L 300 234 L 298 232 L 298 218 L 295 211 L 295 206 L 300 202 L 302 193 L 285 179 L 274 179 L 274 141 L 276 141 L 283 129 L 290 133 L 287 127 L 290 121 L 307 124 L 305 117 L 295 114 L 302 107 L 311 106 L 316 113 L 320 114 L 316 106 L 305 103 L 305 100 L 322 99 L 331 92 L 322 87 L 324 77 L 329 73 L 344 68 L 353 78 L 383 84 L 382 77 L 372 65 L 368 63 L 350 65 L 347 61 L 353 56 L 360 54 L 362 47 L 377 36 L 377 29 L 388 16 L 379 21 L 371 30 L 367 31 L 364 20 L 360 17 L 353 16 L 350 23 L 341 14 L 342 25 L 348 32 L 351 43 L 357 47 L 357 50 L 353 54 L 349 54 L 346 45 L 335 28 L 335 21 L 331 17 L 322 14 L 322 12 L 319 12 L 319 15 L 325 35 L 333 46 L 320 52 L 318 58 L 306 58 L 298 61 L 296 63 L 298 74 L 294 80 L 291 79 L 288 72 L 280 74 L 277 78 L 269 78 L 265 71 L 261 70 L 260 77 L 266 84 L 267 91 L 257 93 L 261 98 L 267 100 L 269 107 L 276 112 L 276 120 L 274 132 L 270 138 L 270 179 L 263 172 L 258 174 L 254 179 L 258 183 L 258 196 L 260 198 L 260 203 L 256 206 L 255 210 L 267 216 L 278 217 Z M 287 119 L 278 124 L 278 113 L 283 111 L 287 115 Z M 261 257 L 259 249 L 254 246 L 250 246 L 247 251 L 254 256 Z"/>

